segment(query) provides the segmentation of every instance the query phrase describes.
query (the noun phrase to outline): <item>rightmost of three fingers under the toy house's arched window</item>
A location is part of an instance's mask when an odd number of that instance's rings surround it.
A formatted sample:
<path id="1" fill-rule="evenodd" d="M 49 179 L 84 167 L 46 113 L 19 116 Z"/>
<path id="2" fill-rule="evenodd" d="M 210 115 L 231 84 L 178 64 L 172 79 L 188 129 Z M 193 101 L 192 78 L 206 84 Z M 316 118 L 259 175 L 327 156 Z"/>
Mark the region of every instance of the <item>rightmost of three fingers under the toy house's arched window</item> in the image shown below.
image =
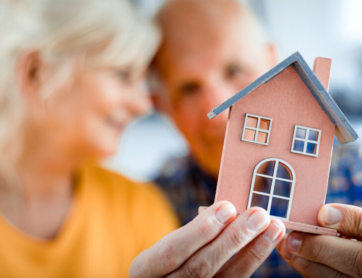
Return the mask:
<path id="1" fill-rule="evenodd" d="M 284 238 L 282 221 L 272 218 L 268 228 L 239 251 L 218 273 L 218 278 L 250 277 Z"/>

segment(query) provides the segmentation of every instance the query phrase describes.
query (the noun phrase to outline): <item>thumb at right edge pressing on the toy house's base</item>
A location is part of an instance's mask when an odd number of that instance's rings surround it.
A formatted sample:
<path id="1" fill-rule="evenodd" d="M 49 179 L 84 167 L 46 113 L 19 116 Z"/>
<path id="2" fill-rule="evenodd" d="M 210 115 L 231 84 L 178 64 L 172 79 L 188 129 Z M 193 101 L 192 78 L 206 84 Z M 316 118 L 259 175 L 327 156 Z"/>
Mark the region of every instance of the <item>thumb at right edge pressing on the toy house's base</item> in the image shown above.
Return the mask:
<path id="1" fill-rule="evenodd" d="M 342 204 L 324 205 L 319 210 L 318 222 L 346 237 L 362 240 L 362 208 Z"/>

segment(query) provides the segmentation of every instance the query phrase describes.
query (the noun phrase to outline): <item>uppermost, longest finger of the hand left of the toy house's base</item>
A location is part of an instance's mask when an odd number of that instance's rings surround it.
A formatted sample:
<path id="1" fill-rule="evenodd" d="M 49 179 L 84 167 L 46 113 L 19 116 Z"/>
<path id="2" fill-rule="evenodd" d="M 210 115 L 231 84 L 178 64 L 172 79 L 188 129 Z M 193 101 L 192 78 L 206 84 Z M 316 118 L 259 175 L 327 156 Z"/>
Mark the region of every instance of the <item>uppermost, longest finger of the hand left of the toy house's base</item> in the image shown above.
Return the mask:
<path id="1" fill-rule="evenodd" d="M 199 248 L 217 237 L 235 217 L 236 209 L 230 202 L 215 203 L 139 254 L 129 268 L 129 276 L 162 277 L 174 271 Z"/>

